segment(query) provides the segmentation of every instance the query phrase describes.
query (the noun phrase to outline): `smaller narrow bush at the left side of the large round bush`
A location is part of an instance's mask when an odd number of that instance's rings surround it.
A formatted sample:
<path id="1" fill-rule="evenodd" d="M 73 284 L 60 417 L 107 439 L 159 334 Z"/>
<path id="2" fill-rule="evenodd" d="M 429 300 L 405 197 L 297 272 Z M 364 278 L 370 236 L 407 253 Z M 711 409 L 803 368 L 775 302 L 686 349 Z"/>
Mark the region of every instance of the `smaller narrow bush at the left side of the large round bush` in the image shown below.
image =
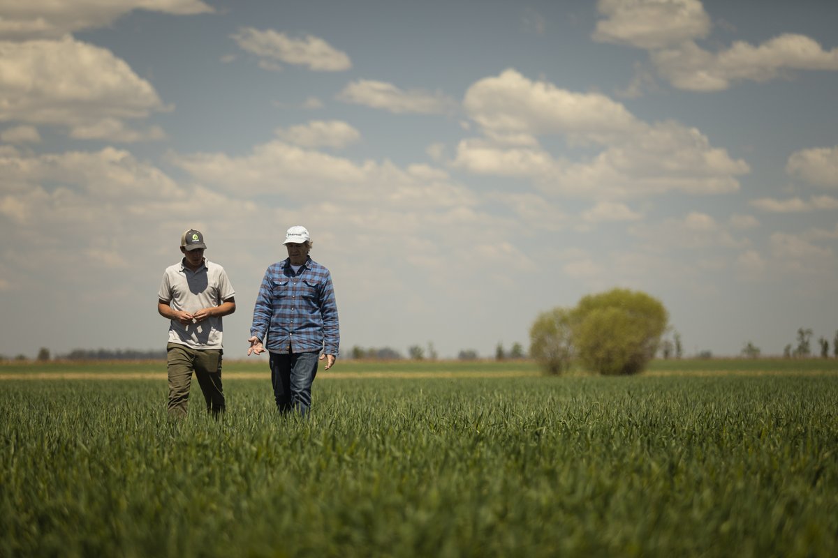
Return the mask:
<path id="1" fill-rule="evenodd" d="M 571 311 L 554 308 L 542 312 L 530 327 L 530 356 L 548 374 L 567 371 L 573 360 Z"/>

